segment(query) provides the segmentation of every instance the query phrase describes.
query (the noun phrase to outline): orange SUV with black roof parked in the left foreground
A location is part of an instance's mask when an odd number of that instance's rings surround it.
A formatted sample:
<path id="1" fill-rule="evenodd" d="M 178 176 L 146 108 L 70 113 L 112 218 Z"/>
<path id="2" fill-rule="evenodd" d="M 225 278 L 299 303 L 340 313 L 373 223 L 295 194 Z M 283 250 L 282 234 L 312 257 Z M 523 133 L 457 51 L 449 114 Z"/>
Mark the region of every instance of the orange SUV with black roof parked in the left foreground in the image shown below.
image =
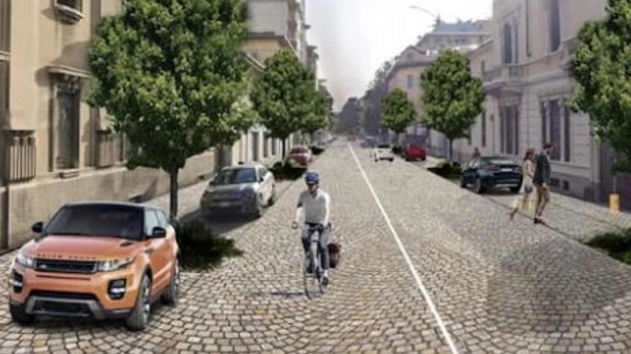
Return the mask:
<path id="1" fill-rule="evenodd" d="M 175 229 L 157 208 L 133 203 L 64 205 L 22 246 L 9 272 L 14 321 L 35 315 L 126 319 L 146 327 L 151 304 L 175 305 L 179 246 Z"/>

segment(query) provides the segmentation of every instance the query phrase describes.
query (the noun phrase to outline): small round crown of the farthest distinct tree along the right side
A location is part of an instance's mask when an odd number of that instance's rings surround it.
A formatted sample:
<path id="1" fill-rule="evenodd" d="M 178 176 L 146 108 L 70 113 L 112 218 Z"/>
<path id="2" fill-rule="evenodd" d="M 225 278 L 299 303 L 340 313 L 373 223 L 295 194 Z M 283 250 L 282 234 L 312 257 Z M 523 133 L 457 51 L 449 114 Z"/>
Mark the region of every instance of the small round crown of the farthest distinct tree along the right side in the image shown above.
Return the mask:
<path id="1" fill-rule="evenodd" d="M 396 88 L 384 97 L 381 108 L 381 124 L 384 127 L 401 134 L 414 122 L 415 117 L 414 105 L 408 101 L 408 94 L 402 89 Z"/>

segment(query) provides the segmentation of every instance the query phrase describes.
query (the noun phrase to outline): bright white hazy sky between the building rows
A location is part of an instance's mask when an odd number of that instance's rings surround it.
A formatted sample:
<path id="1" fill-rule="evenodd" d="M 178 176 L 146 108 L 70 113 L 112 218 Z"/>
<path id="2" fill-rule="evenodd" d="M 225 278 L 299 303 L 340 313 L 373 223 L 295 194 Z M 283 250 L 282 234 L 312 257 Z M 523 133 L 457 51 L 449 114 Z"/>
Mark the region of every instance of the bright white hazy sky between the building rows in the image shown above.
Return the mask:
<path id="1" fill-rule="evenodd" d="M 493 0 L 307 0 L 307 33 L 318 47 L 319 77 L 339 110 L 351 96 L 361 97 L 375 71 L 388 59 L 443 21 L 490 18 Z"/>

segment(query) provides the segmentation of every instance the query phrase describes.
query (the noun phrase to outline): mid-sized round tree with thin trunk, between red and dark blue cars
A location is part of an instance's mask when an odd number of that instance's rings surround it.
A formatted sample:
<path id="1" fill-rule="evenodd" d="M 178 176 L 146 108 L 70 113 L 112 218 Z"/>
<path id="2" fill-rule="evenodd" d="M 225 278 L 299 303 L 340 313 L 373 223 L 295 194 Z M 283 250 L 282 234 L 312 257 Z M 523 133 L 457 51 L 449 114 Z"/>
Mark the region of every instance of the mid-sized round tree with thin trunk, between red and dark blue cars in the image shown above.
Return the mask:
<path id="1" fill-rule="evenodd" d="M 483 111 L 482 81 L 471 76 L 469 59 L 447 49 L 421 74 L 422 122 L 449 139 L 449 160 L 454 140 L 468 137 L 467 130 Z"/>

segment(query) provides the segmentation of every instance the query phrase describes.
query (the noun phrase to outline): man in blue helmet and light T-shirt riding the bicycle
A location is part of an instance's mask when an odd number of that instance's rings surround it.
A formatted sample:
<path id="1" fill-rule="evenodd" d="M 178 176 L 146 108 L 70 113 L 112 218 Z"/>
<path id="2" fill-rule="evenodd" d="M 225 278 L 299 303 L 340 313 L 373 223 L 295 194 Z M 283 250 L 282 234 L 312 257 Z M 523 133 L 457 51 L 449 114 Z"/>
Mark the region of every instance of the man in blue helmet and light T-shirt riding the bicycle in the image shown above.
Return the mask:
<path id="1" fill-rule="evenodd" d="M 298 220 L 304 209 L 305 224 L 309 227 L 305 227 L 305 231 L 302 234 L 302 246 L 304 246 L 305 254 L 309 252 L 310 241 L 314 229 L 319 232 L 320 254 L 322 255 L 322 270 L 324 275 L 322 278 L 322 284 L 327 285 L 329 283 L 329 221 L 331 220 L 331 197 L 326 191 L 319 188 L 320 176 L 315 171 L 307 172 L 305 176 L 305 182 L 307 183 L 307 190 L 300 193 L 298 197 L 298 206 L 296 210 L 296 219 L 292 222 L 293 229 L 298 228 Z"/>

